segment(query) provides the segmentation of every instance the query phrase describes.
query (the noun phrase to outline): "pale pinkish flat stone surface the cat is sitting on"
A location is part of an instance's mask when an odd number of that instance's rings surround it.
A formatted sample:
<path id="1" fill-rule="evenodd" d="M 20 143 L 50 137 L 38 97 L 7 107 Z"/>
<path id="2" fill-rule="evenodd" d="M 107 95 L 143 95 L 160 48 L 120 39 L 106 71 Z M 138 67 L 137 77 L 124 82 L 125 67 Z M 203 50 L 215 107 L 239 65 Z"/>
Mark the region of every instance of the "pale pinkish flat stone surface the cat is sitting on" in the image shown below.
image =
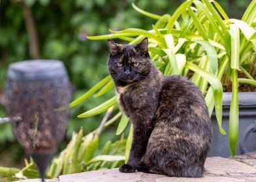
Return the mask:
<path id="1" fill-rule="evenodd" d="M 205 169 L 204 177 L 200 178 L 168 177 L 142 172 L 124 174 L 115 168 L 61 175 L 58 179 L 48 179 L 46 182 L 256 182 L 256 151 L 234 159 L 209 157 L 206 159 Z M 39 181 L 40 179 L 30 179 L 22 182 Z"/>

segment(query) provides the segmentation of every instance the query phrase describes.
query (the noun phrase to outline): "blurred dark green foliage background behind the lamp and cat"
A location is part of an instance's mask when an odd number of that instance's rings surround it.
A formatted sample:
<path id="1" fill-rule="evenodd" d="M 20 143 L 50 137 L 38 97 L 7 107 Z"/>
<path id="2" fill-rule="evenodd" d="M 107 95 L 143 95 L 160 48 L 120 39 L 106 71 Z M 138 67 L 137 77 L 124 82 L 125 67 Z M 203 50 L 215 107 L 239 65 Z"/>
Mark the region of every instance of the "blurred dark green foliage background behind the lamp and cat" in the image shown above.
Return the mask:
<path id="1" fill-rule="evenodd" d="M 5 110 L 5 79 L 8 64 L 28 59 L 62 60 L 69 72 L 73 98 L 86 92 L 108 72 L 106 41 L 86 36 L 108 34 L 108 29 L 129 27 L 151 29 L 153 19 L 138 14 L 131 3 L 155 14 L 172 14 L 182 0 L 0 0 L 0 118 Z M 230 18 L 241 18 L 250 0 L 219 0 Z M 107 97 L 104 96 L 104 97 Z M 108 97 L 109 98 L 109 97 Z M 69 127 L 60 149 L 69 142 L 72 131 L 84 127 L 84 134 L 99 126 L 103 114 L 79 119 L 76 116 L 106 98 L 88 99 L 72 109 Z M 118 123 L 116 123 L 117 125 Z M 100 148 L 116 140 L 116 125 L 101 135 Z M 24 166 L 24 151 L 12 135 L 9 123 L 0 123 L 0 166 Z"/>

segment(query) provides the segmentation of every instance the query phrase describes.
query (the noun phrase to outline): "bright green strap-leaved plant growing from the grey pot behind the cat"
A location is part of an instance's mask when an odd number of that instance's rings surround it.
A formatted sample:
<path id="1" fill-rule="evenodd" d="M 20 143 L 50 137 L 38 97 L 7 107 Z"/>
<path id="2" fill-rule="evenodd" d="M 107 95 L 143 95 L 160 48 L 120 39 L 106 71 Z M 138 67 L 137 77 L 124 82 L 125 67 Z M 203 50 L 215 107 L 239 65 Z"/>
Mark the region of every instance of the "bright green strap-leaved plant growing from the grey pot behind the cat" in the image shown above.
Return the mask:
<path id="1" fill-rule="evenodd" d="M 234 156 L 238 140 L 238 85 L 256 86 L 256 1 L 251 1 L 242 19 L 230 19 L 217 1 L 208 0 L 187 0 L 174 14 L 163 16 L 141 10 L 135 4 L 133 8 L 156 19 L 151 30 L 110 30 L 110 34 L 88 36 L 88 39 L 119 38 L 128 44 L 136 44 L 148 37 L 150 55 L 157 68 L 165 75 L 189 77 L 199 87 L 205 95 L 209 114 L 212 115 L 215 109 L 219 130 L 223 135 L 223 86 L 232 85 L 229 140 L 231 155 Z M 102 96 L 112 89 L 114 83 L 108 76 L 73 101 L 71 107 L 92 94 Z M 78 115 L 78 118 L 99 114 L 112 105 L 116 105 L 115 97 Z M 127 118 L 123 115 L 117 133 L 121 133 L 126 125 Z"/>

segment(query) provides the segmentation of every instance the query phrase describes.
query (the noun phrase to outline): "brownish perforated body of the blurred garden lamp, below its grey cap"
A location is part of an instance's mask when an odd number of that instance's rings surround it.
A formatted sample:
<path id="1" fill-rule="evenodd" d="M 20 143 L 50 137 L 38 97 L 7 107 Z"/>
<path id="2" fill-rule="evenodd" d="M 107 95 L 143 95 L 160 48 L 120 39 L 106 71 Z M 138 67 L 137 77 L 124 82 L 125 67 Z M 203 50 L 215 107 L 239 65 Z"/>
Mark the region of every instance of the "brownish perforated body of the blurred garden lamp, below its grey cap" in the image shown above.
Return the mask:
<path id="1" fill-rule="evenodd" d="M 65 135 L 69 117 L 68 110 L 58 110 L 70 101 L 67 80 L 45 83 L 9 80 L 7 90 L 9 116 L 22 118 L 10 123 L 25 151 L 31 154 L 55 149 Z"/>

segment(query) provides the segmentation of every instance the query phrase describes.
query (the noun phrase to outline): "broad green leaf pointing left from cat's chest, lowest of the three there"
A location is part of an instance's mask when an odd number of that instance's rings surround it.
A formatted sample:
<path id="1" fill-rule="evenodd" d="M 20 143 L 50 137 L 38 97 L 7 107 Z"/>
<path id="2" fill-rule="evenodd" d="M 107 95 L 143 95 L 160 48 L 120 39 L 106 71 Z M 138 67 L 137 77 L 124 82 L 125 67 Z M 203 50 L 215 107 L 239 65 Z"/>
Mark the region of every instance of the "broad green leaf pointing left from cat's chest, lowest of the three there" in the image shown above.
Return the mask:
<path id="1" fill-rule="evenodd" d="M 82 114 L 79 114 L 77 117 L 78 118 L 88 118 L 91 116 L 95 116 L 97 114 L 101 114 L 102 112 L 106 111 L 108 108 L 112 107 L 113 105 L 116 104 L 116 96 L 114 96 L 113 98 L 105 101 L 104 103 L 102 103 L 101 105 L 98 105 L 97 107 L 88 110 Z"/>

